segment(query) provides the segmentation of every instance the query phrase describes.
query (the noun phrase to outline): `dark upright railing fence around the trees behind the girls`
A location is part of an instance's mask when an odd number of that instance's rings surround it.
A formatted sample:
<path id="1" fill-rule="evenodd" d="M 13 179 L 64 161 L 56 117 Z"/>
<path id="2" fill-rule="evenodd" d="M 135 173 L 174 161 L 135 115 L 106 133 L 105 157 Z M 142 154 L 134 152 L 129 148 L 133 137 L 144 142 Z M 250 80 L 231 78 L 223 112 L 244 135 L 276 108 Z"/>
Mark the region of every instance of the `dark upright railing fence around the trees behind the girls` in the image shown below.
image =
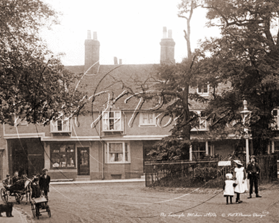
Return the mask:
<path id="1" fill-rule="evenodd" d="M 218 167 L 219 161 L 218 159 L 146 161 L 144 162 L 146 187 L 223 187 L 225 174 L 233 173 L 234 166 Z M 261 169 L 259 184 L 277 178 L 276 155 L 257 157 L 257 162 Z"/>

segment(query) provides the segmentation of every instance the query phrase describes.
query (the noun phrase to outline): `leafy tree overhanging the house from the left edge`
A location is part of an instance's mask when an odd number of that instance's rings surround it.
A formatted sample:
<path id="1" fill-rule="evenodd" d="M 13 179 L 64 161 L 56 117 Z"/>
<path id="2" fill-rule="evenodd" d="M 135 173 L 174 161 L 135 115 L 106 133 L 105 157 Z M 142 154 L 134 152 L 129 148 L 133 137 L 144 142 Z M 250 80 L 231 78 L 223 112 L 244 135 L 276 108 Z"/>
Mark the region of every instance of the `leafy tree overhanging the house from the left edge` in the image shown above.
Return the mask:
<path id="1" fill-rule="evenodd" d="M 0 121 L 23 114 L 29 123 L 47 125 L 62 112 L 79 108 L 77 75 L 63 69 L 40 38 L 58 24 L 58 13 L 40 0 L 0 1 Z"/>

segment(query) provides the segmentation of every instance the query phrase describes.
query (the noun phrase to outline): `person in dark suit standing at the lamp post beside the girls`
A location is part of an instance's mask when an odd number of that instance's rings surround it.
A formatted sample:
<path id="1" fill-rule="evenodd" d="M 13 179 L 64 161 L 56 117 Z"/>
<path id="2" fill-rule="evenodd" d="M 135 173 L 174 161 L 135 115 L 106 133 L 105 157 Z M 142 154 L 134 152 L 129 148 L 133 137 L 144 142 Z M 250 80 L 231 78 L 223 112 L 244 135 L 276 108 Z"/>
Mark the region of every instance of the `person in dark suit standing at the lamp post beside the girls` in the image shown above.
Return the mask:
<path id="1" fill-rule="evenodd" d="M 250 179 L 250 196 L 248 199 L 252 198 L 252 187 L 255 185 L 255 194 L 256 197 L 262 197 L 259 196 L 259 190 L 258 190 L 258 180 L 259 180 L 259 164 L 255 162 L 255 157 L 251 157 L 251 162 L 248 164 L 246 172 L 248 173 L 248 179 Z"/>

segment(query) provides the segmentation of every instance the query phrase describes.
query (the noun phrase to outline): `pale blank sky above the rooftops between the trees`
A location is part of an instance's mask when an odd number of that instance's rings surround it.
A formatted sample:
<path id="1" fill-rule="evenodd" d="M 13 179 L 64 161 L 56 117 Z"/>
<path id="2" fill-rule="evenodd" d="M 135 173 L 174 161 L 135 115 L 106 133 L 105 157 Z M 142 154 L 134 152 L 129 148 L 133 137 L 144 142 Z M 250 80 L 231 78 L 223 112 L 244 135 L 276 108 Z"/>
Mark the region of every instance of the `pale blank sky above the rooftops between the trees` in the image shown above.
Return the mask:
<path id="1" fill-rule="evenodd" d="M 87 30 L 96 31 L 100 42 L 100 64 L 160 63 L 163 26 L 172 29 L 175 60 L 186 57 L 183 29 L 186 20 L 177 16 L 181 0 L 44 0 L 62 15 L 60 25 L 43 30 L 42 38 L 54 54 L 63 53 L 65 66 L 84 65 Z M 206 11 L 195 10 L 191 20 L 192 51 L 199 39 L 218 36 L 218 29 L 206 28 Z M 92 35 L 93 36 L 93 35 Z"/>

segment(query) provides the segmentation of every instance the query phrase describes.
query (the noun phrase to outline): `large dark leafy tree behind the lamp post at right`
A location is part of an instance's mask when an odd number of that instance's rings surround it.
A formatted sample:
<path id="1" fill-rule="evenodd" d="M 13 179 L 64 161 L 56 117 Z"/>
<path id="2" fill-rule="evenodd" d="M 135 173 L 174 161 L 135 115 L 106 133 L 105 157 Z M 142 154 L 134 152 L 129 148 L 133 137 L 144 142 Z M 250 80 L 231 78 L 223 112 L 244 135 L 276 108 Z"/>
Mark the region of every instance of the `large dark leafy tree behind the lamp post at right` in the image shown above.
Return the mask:
<path id="1" fill-rule="evenodd" d="M 216 121 L 211 130 L 241 132 L 243 97 L 253 112 L 251 129 L 255 153 L 264 153 L 273 136 L 272 110 L 279 105 L 279 2 L 205 1 L 209 26 L 219 26 L 220 38 L 208 39 L 197 51 L 199 72 L 207 74 L 214 86 L 228 82 L 229 91 L 213 94 L 207 109 L 208 119 Z M 274 34 L 272 34 L 274 33 Z"/>

